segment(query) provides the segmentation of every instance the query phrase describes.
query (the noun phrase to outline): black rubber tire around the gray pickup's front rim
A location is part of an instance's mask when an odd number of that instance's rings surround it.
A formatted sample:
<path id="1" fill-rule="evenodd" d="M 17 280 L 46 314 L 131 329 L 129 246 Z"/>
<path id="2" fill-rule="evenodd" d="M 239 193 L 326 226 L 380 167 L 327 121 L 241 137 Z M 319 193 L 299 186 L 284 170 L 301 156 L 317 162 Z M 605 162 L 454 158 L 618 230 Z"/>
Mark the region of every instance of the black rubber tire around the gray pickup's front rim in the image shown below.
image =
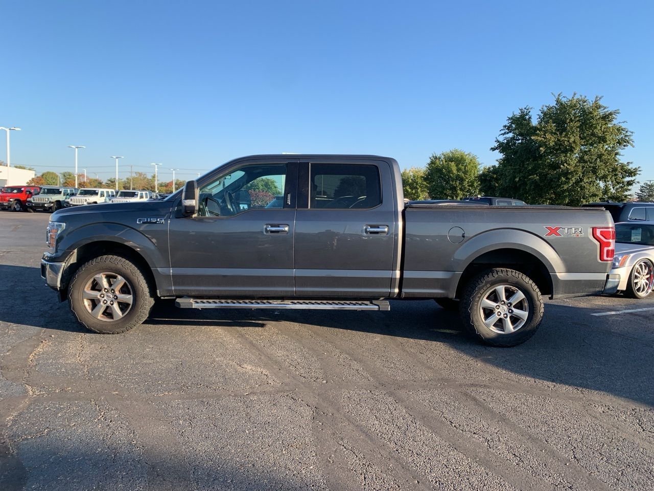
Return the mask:
<path id="1" fill-rule="evenodd" d="M 96 317 L 91 314 L 87 306 L 90 305 L 93 307 L 94 304 L 95 306 L 99 306 L 99 300 L 88 300 L 90 304 L 86 304 L 85 300 L 82 299 L 82 291 L 84 291 L 84 287 L 88 285 L 88 282 L 92 282 L 94 276 L 104 273 L 121 276 L 126 280 L 129 287 L 129 293 L 131 293 L 132 297 L 131 306 L 125 308 L 125 304 L 121 304 L 119 309 L 126 312 L 122 318 L 111 319 L 113 318 L 113 308 L 110 309 L 109 305 L 103 308 L 103 312 L 106 312 L 106 316 L 103 316 L 102 319 Z M 73 280 L 68 289 L 68 299 L 71 310 L 80 323 L 95 333 L 125 333 L 133 327 L 143 323 L 143 321 L 145 321 L 145 319 L 150 315 L 150 310 L 152 310 L 152 305 L 154 305 L 154 298 L 152 297 L 153 289 L 150 287 L 146 278 L 147 276 L 145 272 L 143 272 L 141 266 L 132 263 L 129 259 L 114 255 L 96 257 L 95 259 L 88 261 L 88 263 L 82 264 L 75 273 L 75 276 L 73 276 Z M 109 288 L 111 288 L 111 285 Z M 116 293 L 124 292 L 125 291 L 123 290 L 122 292 Z M 99 293 L 101 293 L 101 290 Z M 107 292 L 107 295 L 109 295 L 109 292 Z M 107 297 L 105 297 L 105 299 L 109 300 Z M 119 302 L 120 300 L 116 300 L 116 306 L 118 306 Z"/>

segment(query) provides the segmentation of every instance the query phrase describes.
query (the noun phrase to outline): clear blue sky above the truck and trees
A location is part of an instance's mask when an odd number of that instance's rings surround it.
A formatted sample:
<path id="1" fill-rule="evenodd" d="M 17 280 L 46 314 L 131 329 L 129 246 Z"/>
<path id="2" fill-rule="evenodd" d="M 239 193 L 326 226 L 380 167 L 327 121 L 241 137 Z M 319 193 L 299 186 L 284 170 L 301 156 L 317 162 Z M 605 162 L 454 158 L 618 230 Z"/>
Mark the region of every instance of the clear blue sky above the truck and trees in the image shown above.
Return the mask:
<path id="1" fill-rule="evenodd" d="M 0 19 L 0 126 L 39 172 L 72 170 L 71 144 L 104 179 L 110 155 L 181 178 L 284 151 L 492 164 L 511 112 L 577 92 L 621 110 L 654 179 L 651 1 L 3 0 Z"/>

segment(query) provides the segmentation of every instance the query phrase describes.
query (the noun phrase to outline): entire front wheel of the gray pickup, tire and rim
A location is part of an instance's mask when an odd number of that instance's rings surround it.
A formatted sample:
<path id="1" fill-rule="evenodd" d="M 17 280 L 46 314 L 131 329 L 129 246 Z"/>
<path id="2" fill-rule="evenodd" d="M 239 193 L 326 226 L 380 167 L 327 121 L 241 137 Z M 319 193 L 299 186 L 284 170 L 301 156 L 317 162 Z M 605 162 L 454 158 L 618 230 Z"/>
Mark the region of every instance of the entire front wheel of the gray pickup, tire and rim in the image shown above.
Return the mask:
<path id="1" fill-rule="evenodd" d="M 114 255 L 83 264 L 71 281 L 68 299 L 77 320 L 101 334 L 125 333 L 140 325 L 154 304 L 141 267 Z"/>

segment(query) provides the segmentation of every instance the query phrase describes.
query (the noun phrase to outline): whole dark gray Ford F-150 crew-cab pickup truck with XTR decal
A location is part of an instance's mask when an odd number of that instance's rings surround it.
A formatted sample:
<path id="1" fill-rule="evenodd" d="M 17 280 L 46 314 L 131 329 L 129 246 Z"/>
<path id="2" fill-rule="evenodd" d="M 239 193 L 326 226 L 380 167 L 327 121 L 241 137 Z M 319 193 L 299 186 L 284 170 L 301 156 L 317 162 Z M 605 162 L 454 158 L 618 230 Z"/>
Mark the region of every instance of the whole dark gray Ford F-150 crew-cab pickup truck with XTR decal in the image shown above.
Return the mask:
<path id="1" fill-rule="evenodd" d="M 281 199 L 280 199 L 281 197 Z M 156 299 L 181 308 L 458 308 L 485 342 L 534 334 L 550 298 L 613 293 L 607 211 L 404 204 L 396 160 L 260 155 L 162 201 L 56 211 L 41 274 L 97 333 L 123 333 Z"/>

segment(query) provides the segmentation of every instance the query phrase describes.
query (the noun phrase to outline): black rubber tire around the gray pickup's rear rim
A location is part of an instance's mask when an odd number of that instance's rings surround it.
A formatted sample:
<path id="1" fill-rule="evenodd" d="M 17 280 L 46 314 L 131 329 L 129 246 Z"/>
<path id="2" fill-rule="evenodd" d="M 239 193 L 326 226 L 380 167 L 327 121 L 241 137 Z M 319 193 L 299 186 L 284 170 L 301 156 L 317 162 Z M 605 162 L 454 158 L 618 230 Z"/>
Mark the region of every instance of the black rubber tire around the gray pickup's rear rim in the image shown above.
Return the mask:
<path id="1" fill-rule="evenodd" d="M 498 300 L 499 295 L 496 295 L 494 291 L 497 287 L 503 286 L 505 288 L 502 291 L 507 291 L 511 297 L 517 291 L 525 296 L 524 299 L 516 302 L 519 309 L 509 303 L 508 298 Z M 490 298 L 495 300 L 489 300 Z M 496 302 L 496 306 L 494 308 L 483 307 L 482 300 L 484 299 L 489 300 L 490 303 Z M 479 274 L 468 282 L 460 302 L 461 320 L 466 331 L 479 336 L 485 343 L 492 346 L 516 346 L 525 342 L 536 333 L 543 319 L 543 299 L 536 283 L 525 274 L 512 269 L 494 268 Z M 500 305 L 500 303 L 502 304 Z M 518 318 L 518 314 L 514 314 L 511 306 L 515 308 L 515 312 L 525 312 L 525 304 L 528 306 L 526 318 L 520 323 L 521 319 Z M 482 316 L 484 315 L 486 319 L 492 321 L 494 319 L 492 312 L 498 312 L 499 315 L 497 321 L 489 327 L 485 325 Z M 503 320 L 505 316 L 508 316 L 506 321 Z M 507 329 L 507 322 L 509 325 L 515 322 L 515 325 L 519 325 L 519 327 L 512 332 L 498 332 L 500 329 Z"/>

